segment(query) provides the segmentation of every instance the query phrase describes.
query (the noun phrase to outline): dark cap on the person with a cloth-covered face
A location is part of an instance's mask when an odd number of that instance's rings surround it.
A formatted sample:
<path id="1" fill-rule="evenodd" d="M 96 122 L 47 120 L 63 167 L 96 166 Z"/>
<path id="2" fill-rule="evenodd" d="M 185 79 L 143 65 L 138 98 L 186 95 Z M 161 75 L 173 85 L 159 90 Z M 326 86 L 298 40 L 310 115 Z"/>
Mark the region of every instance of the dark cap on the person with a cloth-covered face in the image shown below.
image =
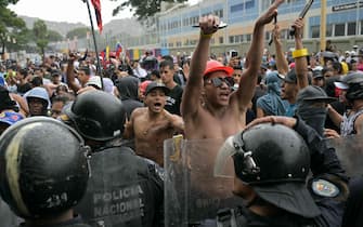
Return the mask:
<path id="1" fill-rule="evenodd" d="M 330 103 L 336 99 L 337 98 L 327 96 L 322 88 L 316 85 L 308 85 L 299 91 L 296 102 L 300 103 L 302 101 L 316 101 Z"/>

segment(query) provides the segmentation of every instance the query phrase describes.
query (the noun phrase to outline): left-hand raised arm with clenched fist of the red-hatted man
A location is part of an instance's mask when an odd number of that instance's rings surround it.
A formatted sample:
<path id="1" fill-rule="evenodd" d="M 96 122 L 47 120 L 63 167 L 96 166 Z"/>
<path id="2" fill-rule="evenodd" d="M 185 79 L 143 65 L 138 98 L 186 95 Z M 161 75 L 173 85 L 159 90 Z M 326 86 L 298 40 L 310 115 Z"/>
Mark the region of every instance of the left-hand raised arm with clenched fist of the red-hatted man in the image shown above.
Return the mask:
<path id="1" fill-rule="evenodd" d="M 212 35 L 218 30 L 219 17 L 205 16 L 200 17 L 200 36 L 199 41 L 194 50 L 190 77 L 183 92 L 181 103 L 181 114 L 183 119 L 192 119 L 200 107 L 200 93 L 203 89 L 203 72 L 209 57 L 209 43 Z"/>

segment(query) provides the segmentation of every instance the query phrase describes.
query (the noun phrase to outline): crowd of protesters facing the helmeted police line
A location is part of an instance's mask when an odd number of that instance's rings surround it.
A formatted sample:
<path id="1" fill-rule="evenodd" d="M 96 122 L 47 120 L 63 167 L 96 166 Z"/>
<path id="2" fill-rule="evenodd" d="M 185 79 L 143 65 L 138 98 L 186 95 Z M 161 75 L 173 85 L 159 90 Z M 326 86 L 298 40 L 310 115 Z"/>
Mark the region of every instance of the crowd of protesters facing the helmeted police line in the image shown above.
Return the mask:
<path id="1" fill-rule="evenodd" d="M 130 141 L 129 146 L 138 156 L 161 168 L 163 143 L 176 134 L 187 139 L 228 138 L 249 122 L 267 121 L 263 119 L 269 117 L 285 124 L 291 121 L 281 117 L 301 119 L 321 138 L 361 135 L 363 46 L 354 45 L 342 52 L 328 42 L 326 50 L 313 53 L 303 46 L 303 19 L 297 18 L 295 48 L 285 50 L 275 25 L 274 51 L 268 51 L 263 44 L 264 25 L 276 16 L 274 6 L 257 19 L 251 48 L 246 54 L 236 51 L 220 56 L 209 54 L 210 38 L 217 31 L 215 25 L 219 18 L 206 16 L 199 22 L 200 39 L 193 56 L 156 57 L 146 51 L 140 59 L 122 54 L 98 59 L 92 52 L 69 52 L 62 57 L 44 57 L 40 64 L 28 61 L 25 67 L 16 61 L 3 61 L 0 132 L 31 117 L 66 122 L 72 117 L 66 109 L 73 108 L 77 97 L 99 90 L 122 103 L 125 121 L 119 136 Z M 102 61 L 101 70 L 96 61 Z M 299 123 L 294 121 L 296 125 Z M 77 129 L 81 131 L 81 126 Z M 363 211 L 363 193 L 359 188 L 363 187 L 363 181 L 353 177 L 348 185 L 340 165 L 337 169 L 333 175 L 352 192 L 346 195 L 349 212 L 337 211 L 338 216 L 329 221 L 359 226 Z"/>

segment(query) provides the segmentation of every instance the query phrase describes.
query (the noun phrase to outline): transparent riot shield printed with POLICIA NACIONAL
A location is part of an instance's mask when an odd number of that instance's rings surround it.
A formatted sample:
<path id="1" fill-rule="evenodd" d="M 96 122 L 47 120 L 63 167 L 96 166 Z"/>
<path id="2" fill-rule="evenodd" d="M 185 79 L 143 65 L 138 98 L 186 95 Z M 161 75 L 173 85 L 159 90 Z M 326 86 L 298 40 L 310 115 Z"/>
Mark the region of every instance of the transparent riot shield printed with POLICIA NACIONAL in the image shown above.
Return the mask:
<path id="1" fill-rule="evenodd" d="M 87 192 L 75 209 L 92 227 L 142 226 L 145 191 L 130 152 L 115 147 L 92 153 Z"/>

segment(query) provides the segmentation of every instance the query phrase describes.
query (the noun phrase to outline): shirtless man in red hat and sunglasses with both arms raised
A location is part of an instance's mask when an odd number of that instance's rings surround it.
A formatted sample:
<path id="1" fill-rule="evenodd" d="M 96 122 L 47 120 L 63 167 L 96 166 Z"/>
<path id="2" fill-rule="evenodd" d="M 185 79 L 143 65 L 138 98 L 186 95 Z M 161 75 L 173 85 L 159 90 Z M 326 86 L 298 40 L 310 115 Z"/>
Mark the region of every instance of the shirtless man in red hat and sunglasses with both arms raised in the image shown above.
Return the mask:
<path id="1" fill-rule="evenodd" d="M 191 61 L 181 106 L 187 139 L 226 138 L 244 129 L 262 61 L 264 25 L 277 15 L 277 6 L 282 2 L 276 0 L 255 23 L 254 39 L 235 92 L 232 92 L 228 81 L 233 68 L 224 67 L 217 61 L 207 63 L 210 39 L 217 31 L 219 18 L 212 15 L 200 18 L 199 42 Z"/>

